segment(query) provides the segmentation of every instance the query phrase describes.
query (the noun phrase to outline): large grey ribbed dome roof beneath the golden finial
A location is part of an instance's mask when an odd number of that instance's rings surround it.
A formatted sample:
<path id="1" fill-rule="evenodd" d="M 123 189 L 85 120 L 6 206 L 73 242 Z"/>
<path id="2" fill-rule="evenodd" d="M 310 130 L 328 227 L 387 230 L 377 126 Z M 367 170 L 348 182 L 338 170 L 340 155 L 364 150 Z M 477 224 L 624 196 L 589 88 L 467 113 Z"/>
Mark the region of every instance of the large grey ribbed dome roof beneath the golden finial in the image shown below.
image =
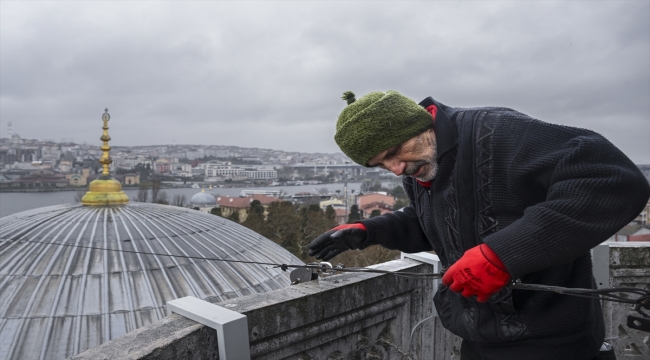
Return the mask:
<path id="1" fill-rule="evenodd" d="M 288 273 L 261 265 L 127 251 L 302 264 L 239 224 L 180 207 L 72 204 L 10 215 L 0 219 L 0 359 L 72 356 L 164 317 L 176 298 L 220 301 L 289 285 Z"/>

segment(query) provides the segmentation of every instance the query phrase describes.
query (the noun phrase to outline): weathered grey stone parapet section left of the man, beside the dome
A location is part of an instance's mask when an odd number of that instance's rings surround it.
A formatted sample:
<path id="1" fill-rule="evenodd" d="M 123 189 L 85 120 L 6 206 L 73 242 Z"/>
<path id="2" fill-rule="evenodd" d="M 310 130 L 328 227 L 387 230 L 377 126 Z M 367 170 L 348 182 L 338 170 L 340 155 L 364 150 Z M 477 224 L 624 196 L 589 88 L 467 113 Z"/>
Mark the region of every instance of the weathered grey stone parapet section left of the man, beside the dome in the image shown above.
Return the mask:
<path id="1" fill-rule="evenodd" d="M 432 271 L 410 259 L 375 267 Z M 433 359 L 434 322 L 421 322 L 432 298 L 428 279 L 344 273 L 219 306 L 248 317 L 253 359 Z M 73 359 L 216 359 L 216 343 L 215 330 L 173 314 Z"/>

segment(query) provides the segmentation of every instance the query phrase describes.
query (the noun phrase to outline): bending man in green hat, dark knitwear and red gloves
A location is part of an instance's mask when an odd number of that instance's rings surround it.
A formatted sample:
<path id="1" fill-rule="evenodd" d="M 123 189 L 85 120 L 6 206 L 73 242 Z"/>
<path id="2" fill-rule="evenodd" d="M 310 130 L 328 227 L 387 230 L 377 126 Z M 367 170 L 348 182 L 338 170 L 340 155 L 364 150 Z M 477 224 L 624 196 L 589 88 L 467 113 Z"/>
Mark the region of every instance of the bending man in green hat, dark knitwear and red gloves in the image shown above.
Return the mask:
<path id="1" fill-rule="evenodd" d="M 337 144 L 358 164 L 404 176 L 410 205 L 338 226 L 310 255 L 435 250 L 446 271 L 434 303 L 463 338 L 463 360 L 598 358 L 598 300 L 506 285 L 595 288 L 589 249 L 650 197 L 638 168 L 592 131 L 507 108 L 416 104 L 395 91 L 344 99 Z"/>

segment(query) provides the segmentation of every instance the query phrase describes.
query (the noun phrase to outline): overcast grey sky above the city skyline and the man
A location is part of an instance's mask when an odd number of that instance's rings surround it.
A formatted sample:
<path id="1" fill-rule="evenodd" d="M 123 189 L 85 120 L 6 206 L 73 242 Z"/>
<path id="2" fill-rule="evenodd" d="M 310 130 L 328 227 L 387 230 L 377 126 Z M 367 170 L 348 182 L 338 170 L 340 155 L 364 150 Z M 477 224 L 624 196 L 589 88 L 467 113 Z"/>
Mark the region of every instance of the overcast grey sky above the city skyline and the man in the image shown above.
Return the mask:
<path id="1" fill-rule="evenodd" d="M 338 152 L 346 90 L 507 106 L 650 163 L 648 1 L 0 1 L 0 136 Z"/>

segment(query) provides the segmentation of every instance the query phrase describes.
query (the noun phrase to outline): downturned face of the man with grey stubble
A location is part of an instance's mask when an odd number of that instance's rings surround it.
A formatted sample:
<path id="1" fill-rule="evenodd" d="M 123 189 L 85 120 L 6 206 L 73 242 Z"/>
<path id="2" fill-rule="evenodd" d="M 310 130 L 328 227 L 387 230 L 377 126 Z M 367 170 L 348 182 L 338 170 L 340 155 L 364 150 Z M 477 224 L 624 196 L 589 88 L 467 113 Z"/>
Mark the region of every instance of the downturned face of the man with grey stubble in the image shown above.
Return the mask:
<path id="1" fill-rule="evenodd" d="M 373 156 L 368 165 L 379 166 L 395 175 L 412 176 L 426 182 L 436 177 L 436 158 L 436 135 L 433 129 L 429 129 Z"/>

